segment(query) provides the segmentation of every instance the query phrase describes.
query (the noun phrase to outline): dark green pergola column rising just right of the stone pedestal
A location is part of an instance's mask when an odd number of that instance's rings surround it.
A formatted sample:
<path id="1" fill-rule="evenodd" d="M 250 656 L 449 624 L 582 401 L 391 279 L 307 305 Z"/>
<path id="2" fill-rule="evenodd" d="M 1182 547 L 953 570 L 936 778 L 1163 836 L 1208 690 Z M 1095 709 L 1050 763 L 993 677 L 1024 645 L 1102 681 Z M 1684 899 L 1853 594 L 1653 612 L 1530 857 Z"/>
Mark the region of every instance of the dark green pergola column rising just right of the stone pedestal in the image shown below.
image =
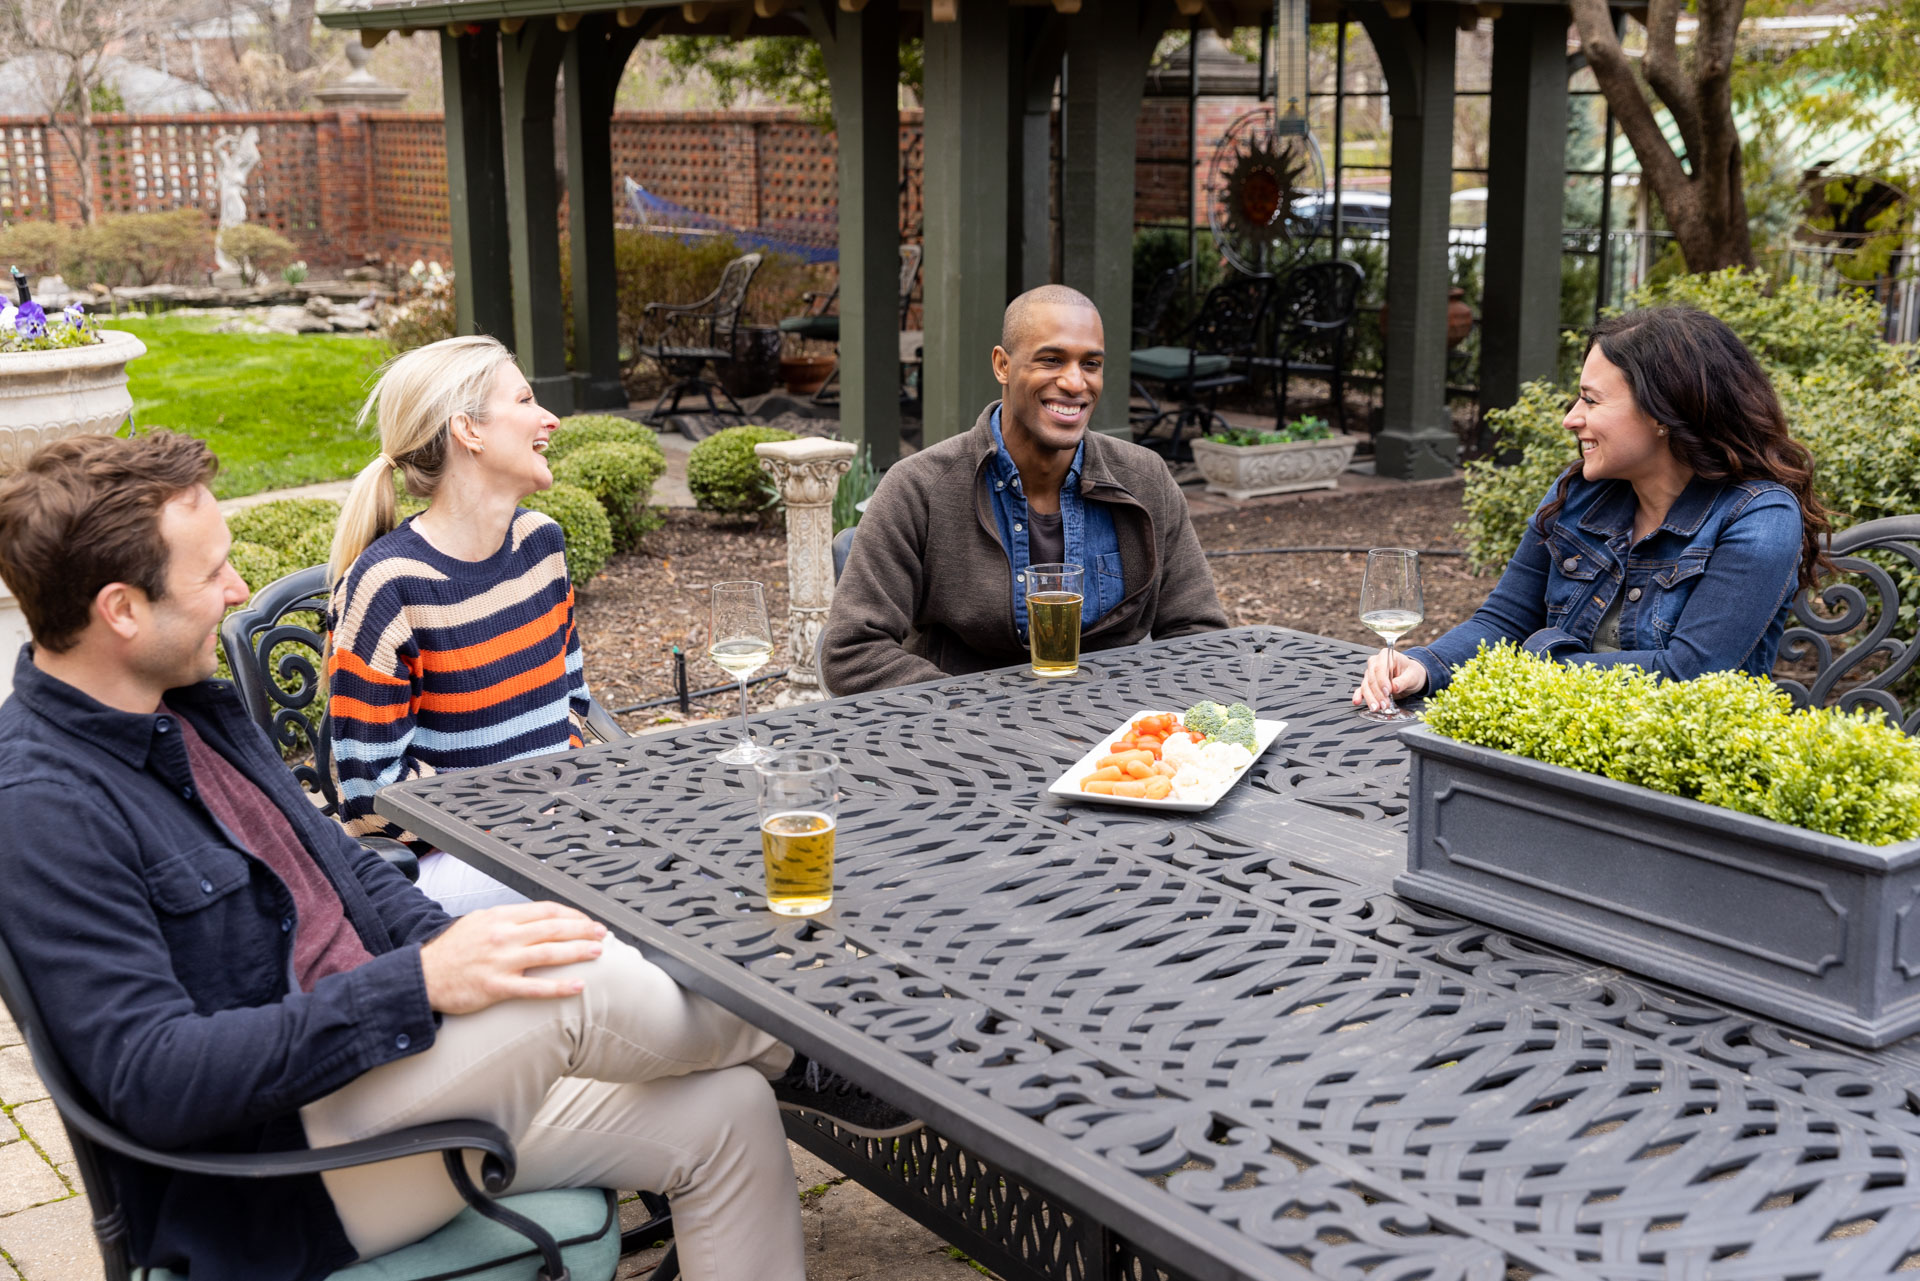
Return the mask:
<path id="1" fill-rule="evenodd" d="M 874 467 L 893 467 L 900 457 L 900 13 L 893 4 L 837 12 L 814 2 L 806 19 L 826 54 L 839 140 L 841 436 L 866 446 Z"/>

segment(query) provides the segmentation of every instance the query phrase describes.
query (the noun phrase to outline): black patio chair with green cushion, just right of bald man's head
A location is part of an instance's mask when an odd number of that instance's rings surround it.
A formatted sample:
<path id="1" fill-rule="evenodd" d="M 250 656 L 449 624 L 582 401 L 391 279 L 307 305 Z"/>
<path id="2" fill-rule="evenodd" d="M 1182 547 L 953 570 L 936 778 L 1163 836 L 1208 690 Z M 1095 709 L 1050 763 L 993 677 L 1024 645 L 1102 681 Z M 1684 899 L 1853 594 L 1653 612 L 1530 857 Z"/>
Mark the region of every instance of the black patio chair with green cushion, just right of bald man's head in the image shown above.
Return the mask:
<path id="1" fill-rule="evenodd" d="M 1260 342 L 1260 323 L 1271 300 L 1273 277 L 1223 280 L 1206 292 L 1200 315 L 1187 326 L 1185 346 L 1142 348 L 1133 353 L 1133 376 L 1158 382 L 1162 396 L 1177 401 L 1139 424 L 1137 442 L 1164 453 L 1167 461 L 1179 461 L 1188 426 L 1194 428 L 1194 436 L 1206 436 L 1215 423 L 1227 426 L 1213 405 L 1225 388 L 1248 380 L 1236 365 L 1252 359 Z M 1169 419 L 1171 430 L 1165 438 L 1158 438 L 1160 424 Z"/>

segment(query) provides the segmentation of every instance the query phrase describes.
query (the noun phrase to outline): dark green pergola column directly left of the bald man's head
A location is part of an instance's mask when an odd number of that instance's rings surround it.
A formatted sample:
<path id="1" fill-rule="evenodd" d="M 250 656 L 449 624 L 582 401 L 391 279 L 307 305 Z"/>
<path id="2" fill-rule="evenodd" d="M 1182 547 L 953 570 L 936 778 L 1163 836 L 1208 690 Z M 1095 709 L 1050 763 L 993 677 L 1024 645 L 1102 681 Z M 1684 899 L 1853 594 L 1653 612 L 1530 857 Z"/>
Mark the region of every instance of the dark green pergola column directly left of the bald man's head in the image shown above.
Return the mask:
<path id="1" fill-rule="evenodd" d="M 952 21 L 927 23 L 922 273 L 929 446 L 972 428 L 1000 394 L 991 351 L 1008 302 L 1010 35 L 1000 4 L 960 4 Z"/>

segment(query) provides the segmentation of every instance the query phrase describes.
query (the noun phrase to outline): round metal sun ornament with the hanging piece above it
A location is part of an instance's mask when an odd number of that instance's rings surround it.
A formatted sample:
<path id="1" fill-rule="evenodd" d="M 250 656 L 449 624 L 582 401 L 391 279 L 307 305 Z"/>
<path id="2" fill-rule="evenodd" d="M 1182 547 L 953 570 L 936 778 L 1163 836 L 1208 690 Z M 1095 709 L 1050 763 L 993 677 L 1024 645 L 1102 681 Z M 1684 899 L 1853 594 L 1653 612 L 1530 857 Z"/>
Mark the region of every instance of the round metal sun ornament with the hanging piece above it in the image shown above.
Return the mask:
<path id="1" fill-rule="evenodd" d="M 1248 275 L 1298 259 L 1321 219 L 1327 165 L 1308 129 L 1308 6 L 1275 0 L 1275 106 L 1236 119 L 1208 169 L 1213 244 Z"/>

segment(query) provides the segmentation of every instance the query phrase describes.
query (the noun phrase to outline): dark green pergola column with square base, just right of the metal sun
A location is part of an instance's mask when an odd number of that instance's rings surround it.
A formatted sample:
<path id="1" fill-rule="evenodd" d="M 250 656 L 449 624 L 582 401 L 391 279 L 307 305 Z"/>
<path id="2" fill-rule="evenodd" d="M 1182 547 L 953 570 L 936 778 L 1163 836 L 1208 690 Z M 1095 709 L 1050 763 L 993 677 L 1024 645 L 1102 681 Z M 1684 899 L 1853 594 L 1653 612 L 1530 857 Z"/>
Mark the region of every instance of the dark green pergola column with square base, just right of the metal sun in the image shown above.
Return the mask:
<path id="1" fill-rule="evenodd" d="M 1519 6 L 1515 6 L 1519 8 Z M 1386 265 L 1386 388 L 1373 438 L 1380 476 L 1446 476 L 1459 438 L 1446 403 L 1448 196 L 1453 186 L 1455 6 L 1407 17 L 1359 6 L 1394 113 Z M 1565 117 L 1555 117 L 1565 129 Z"/>

